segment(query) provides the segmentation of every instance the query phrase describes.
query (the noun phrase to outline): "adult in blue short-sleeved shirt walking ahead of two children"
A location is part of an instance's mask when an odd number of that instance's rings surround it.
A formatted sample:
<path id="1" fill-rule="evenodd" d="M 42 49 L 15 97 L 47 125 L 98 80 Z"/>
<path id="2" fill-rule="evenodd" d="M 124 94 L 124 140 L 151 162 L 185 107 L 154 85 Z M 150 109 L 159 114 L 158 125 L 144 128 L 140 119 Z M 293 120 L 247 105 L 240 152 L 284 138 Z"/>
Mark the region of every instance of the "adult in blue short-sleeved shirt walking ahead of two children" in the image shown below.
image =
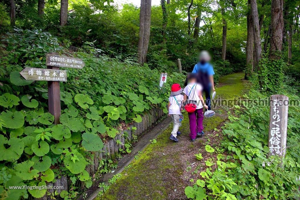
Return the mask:
<path id="1" fill-rule="evenodd" d="M 208 110 L 211 109 L 210 91 L 214 89 L 214 68 L 210 64 L 211 57 L 207 51 L 202 51 L 199 54 L 199 62 L 195 64 L 192 73 L 198 73 L 199 83 L 203 86 L 205 92 L 205 104 Z M 207 109 L 205 109 L 207 110 Z"/>

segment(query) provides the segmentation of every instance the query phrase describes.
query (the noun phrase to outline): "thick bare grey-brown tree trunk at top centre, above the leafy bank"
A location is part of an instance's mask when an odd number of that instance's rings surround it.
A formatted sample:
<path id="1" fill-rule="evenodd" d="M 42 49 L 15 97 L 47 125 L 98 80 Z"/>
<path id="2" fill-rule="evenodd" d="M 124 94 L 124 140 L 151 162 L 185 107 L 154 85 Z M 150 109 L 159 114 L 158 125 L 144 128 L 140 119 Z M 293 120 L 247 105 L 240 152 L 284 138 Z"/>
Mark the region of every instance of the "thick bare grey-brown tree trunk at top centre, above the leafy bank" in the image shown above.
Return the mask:
<path id="1" fill-rule="evenodd" d="M 140 8 L 140 35 L 137 49 L 138 62 L 143 65 L 146 62 L 151 24 L 151 0 L 141 0 Z"/>

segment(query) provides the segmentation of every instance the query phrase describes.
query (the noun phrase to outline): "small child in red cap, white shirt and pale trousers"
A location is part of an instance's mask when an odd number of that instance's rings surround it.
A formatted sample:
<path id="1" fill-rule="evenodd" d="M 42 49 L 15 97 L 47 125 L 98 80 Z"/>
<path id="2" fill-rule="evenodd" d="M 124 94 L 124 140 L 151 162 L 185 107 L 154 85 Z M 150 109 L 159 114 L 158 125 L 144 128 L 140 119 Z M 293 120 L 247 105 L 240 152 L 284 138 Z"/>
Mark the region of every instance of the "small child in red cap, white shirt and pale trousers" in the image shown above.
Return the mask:
<path id="1" fill-rule="evenodd" d="M 181 126 L 180 115 L 181 115 L 181 106 L 183 101 L 183 95 L 181 94 L 183 89 L 180 87 L 179 84 L 175 83 L 171 87 L 171 94 L 169 97 L 169 116 L 173 119 L 173 130 L 171 132 L 170 140 L 174 142 L 178 142 L 176 138 L 177 135 L 180 135 L 180 131 L 178 131 L 179 127 Z"/>

